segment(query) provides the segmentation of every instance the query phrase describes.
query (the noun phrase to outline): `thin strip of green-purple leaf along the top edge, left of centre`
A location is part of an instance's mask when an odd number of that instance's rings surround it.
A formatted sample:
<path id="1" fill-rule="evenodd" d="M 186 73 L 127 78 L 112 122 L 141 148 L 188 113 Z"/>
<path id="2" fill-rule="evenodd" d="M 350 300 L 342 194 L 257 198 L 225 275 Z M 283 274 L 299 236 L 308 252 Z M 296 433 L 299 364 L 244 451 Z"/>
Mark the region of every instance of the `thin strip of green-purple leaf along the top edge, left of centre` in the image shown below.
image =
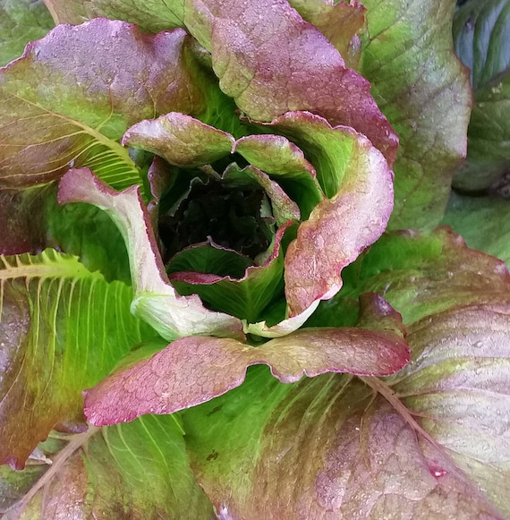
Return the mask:
<path id="1" fill-rule="evenodd" d="M 131 21 L 144 32 L 183 27 L 183 0 L 44 0 L 55 23 L 80 24 L 92 18 Z"/>

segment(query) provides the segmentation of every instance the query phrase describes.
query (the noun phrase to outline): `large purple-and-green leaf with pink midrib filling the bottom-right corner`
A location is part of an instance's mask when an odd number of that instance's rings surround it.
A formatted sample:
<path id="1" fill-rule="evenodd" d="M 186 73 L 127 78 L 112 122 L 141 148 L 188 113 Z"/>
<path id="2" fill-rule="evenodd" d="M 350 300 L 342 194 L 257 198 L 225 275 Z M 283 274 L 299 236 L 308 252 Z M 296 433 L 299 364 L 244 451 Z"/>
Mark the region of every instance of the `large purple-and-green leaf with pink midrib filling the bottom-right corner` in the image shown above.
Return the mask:
<path id="1" fill-rule="evenodd" d="M 219 517 L 506 518 L 509 304 L 499 295 L 415 321 L 412 361 L 389 379 L 284 387 L 257 367 L 183 413 Z"/>

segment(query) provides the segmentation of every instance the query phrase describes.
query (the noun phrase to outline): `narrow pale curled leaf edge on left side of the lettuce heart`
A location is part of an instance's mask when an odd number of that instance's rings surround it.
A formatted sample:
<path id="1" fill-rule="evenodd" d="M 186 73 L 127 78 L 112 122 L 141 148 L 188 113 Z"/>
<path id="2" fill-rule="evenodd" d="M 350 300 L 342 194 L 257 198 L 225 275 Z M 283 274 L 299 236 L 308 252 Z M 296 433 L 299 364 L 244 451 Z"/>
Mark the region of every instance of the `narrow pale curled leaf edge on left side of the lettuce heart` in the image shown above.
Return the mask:
<path id="1" fill-rule="evenodd" d="M 115 192 L 89 170 L 72 169 L 59 188 L 60 202 L 88 202 L 103 209 L 123 234 L 130 258 L 134 299 L 132 312 L 172 341 L 195 334 L 242 337 L 241 321 L 208 311 L 198 295 L 179 296 L 168 283 L 150 225 L 149 214 L 132 186 Z"/>

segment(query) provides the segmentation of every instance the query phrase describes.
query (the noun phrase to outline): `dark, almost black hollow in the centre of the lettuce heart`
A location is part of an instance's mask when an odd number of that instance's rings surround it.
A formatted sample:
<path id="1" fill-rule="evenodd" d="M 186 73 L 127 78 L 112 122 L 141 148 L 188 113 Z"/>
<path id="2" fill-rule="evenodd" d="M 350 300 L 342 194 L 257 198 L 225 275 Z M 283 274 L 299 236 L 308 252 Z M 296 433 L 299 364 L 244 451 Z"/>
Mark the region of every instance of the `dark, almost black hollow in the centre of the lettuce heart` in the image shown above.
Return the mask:
<path id="1" fill-rule="evenodd" d="M 208 237 L 250 257 L 266 251 L 274 234 L 270 202 L 262 189 L 231 187 L 214 179 L 191 183 L 188 196 L 159 219 L 159 236 L 169 260 L 178 251 Z"/>

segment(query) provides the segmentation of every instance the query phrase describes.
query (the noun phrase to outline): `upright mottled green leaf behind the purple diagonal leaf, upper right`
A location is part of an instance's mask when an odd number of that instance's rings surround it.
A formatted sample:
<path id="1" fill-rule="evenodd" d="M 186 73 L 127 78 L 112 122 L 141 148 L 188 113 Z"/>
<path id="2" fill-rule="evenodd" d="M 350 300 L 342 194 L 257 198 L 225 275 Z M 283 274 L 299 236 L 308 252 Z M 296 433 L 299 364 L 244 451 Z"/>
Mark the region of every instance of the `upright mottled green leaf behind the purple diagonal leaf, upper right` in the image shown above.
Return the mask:
<path id="1" fill-rule="evenodd" d="M 455 58 L 455 1 L 365 0 L 369 37 L 360 72 L 400 138 L 390 228 L 431 229 L 466 153 L 471 90 Z"/>

